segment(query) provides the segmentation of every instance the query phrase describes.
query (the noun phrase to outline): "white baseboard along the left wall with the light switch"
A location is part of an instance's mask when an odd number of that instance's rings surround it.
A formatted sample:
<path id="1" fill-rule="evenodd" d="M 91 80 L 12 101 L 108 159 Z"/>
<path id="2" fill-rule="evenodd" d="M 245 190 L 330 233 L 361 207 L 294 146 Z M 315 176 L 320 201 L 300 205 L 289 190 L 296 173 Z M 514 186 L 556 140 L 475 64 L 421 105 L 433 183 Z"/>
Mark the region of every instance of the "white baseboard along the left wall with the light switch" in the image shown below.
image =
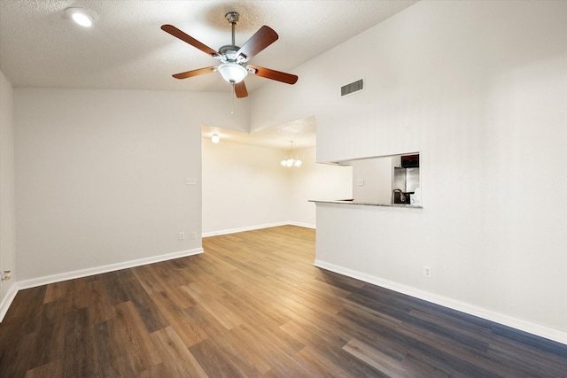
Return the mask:
<path id="1" fill-rule="evenodd" d="M 75 278 L 82 278 L 94 274 L 113 272 L 116 270 L 126 269 L 134 266 L 143 266 L 147 264 L 157 263 L 159 261 L 170 260 L 173 258 L 184 258 L 186 256 L 197 255 L 199 253 L 203 253 L 203 248 L 195 248 L 193 250 L 166 253 L 164 255 L 152 256 L 151 258 L 138 258 L 136 260 L 124 261 L 121 263 L 110 264 L 105 266 L 90 267 L 87 269 L 75 270 L 73 272 L 46 275 L 43 277 L 37 277 L 18 282 L 18 289 L 35 288 L 36 286 L 47 285 L 53 282 L 73 280 Z"/>

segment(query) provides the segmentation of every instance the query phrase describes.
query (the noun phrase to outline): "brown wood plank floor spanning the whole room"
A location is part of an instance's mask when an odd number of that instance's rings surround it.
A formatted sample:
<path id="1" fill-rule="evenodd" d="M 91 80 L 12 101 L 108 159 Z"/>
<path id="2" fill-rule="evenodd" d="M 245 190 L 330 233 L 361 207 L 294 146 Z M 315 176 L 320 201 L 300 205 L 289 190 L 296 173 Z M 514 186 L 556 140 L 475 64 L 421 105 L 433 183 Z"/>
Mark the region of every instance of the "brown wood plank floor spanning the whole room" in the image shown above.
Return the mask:
<path id="1" fill-rule="evenodd" d="M 313 266 L 315 231 L 18 293 L 0 377 L 566 377 L 567 346 Z"/>

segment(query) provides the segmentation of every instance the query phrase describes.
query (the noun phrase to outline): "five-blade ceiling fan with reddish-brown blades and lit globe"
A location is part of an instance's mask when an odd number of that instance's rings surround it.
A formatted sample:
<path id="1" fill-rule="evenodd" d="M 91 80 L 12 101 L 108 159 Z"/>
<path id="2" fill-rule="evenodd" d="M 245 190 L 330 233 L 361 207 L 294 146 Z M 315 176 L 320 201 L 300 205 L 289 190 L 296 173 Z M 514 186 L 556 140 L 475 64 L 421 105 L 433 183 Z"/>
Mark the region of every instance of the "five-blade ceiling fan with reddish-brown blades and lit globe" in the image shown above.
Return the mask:
<path id="1" fill-rule="evenodd" d="M 225 81 L 233 85 L 238 98 L 248 96 L 248 90 L 246 89 L 244 80 L 249 73 L 287 84 L 295 84 L 296 81 L 298 81 L 298 76 L 291 73 L 282 73 L 265 67 L 246 65 L 246 63 L 261 50 L 266 49 L 270 44 L 276 42 L 278 35 L 271 27 L 265 25 L 260 27 L 242 47 L 238 47 L 235 44 L 234 29 L 240 15 L 238 12 L 229 12 L 224 17 L 232 26 L 232 44 L 222 46 L 218 51 L 211 49 L 206 46 L 206 44 L 199 42 L 190 35 L 186 35 L 177 27 L 172 25 L 161 26 L 161 29 L 170 35 L 179 38 L 183 42 L 189 43 L 191 46 L 196 47 L 198 50 L 205 52 L 207 55 L 221 62 L 219 66 L 209 66 L 184 73 L 175 73 L 173 75 L 175 79 L 187 79 L 204 73 L 218 71 Z"/>

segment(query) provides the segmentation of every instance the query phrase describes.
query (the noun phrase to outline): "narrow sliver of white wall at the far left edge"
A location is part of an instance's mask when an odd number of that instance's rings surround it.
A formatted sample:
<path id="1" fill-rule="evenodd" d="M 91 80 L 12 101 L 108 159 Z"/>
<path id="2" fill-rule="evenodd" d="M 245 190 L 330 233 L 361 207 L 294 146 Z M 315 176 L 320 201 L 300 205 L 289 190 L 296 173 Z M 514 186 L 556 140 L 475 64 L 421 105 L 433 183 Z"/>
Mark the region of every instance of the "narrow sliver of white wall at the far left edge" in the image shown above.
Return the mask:
<path id="1" fill-rule="evenodd" d="M 0 72 L 0 272 L 12 271 L 11 281 L 0 282 L 0 320 L 16 292 L 12 90 Z"/>

